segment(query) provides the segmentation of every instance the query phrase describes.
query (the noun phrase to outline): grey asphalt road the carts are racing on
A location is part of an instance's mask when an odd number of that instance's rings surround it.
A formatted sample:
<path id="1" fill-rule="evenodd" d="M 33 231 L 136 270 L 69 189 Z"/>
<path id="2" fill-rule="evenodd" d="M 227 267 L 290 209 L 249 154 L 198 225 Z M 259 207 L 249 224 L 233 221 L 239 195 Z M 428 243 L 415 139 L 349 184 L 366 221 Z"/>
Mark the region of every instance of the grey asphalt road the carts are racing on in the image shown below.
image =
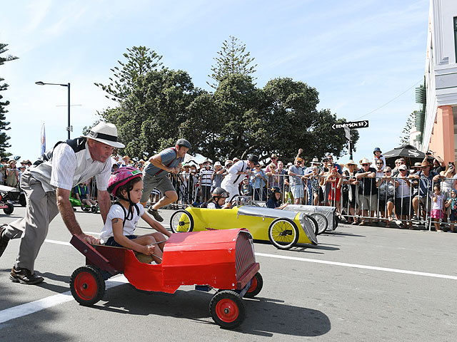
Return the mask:
<path id="1" fill-rule="evenodd" d="M 163 214 L 167 224 L 171 211 Z M 101 230 L 99 214 L 76 219 L 85 232 Z M 139 234 L 148 231 L 140 222 Z M 117 276 L 104 299 L 80 306 L 69 277 L 84 257 L 70 238 L 56 217 L 36 260 L 39 286 L 9 281 L 19 240 L 9 243 L 0 258 L 0 341 L 456 341 L 457 234 L 340 225 L 318 247 L 256 243 L 263 290 L 245 299 L 246 320 L 233 331 L 212 321 L 212 294 L 191 286 L 144 293 Z"/>

